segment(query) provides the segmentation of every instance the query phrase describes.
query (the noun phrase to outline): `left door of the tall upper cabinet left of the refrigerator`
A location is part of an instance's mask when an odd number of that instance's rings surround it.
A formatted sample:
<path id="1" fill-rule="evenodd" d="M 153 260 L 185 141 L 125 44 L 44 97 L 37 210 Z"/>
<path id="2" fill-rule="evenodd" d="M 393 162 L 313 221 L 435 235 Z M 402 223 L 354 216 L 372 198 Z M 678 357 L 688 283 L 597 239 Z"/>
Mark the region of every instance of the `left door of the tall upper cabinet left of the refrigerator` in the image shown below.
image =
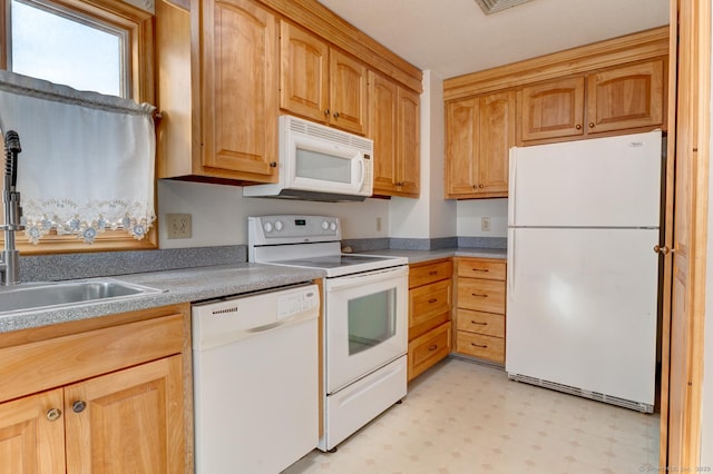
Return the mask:
<path id="1" fill-rule="evenodd" d="M 476 195 L 480 100 L 468 98 L 446 105 L 446 197 Z"/>

